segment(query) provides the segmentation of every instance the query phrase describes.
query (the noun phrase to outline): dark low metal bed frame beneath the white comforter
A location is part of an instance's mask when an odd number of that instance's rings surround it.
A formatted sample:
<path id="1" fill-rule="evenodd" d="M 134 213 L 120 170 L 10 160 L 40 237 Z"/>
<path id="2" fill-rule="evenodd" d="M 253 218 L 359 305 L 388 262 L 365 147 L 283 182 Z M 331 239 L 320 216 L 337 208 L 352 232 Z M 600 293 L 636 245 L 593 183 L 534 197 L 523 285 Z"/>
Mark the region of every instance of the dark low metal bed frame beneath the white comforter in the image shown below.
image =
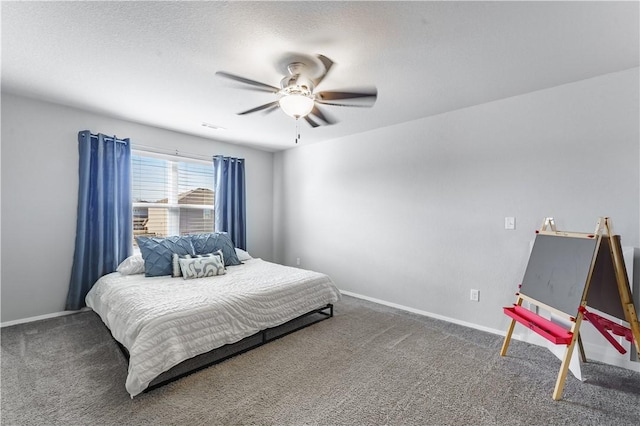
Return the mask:
<path id="1" fill-rule="evenodd" d="M 299 317 L 296 317 L 284 324 L 261 330 L 256 334 L 245 337 L 244 339 L 236 343 L 229 343 L 227 345 L 213 349 L 209 352 L 197 355 L 193 358 L 182 361 L 180 364 L 158 375 L 151 381 L 151 383 L 149 383 L 149 386 L 147 386 L 147 388 L 143 392 L 149 392 L 153 389 L 169 384 L 197 371 L 218 364 L 236 355 L 240 355 L 244 352 L 258 348 L 273 340 L 279 339 L 288 334 L 294 333 L 305 327 L 332 317 L 333 304 L 329 303 L 318 309 L 307 312 L 306 314 L 302 314 Z M 128 362 L 129 351 L 127 351 L 127 348 L 125 348 L 120 342 L 118 342 L 117 340 L 115 341 Z"/>

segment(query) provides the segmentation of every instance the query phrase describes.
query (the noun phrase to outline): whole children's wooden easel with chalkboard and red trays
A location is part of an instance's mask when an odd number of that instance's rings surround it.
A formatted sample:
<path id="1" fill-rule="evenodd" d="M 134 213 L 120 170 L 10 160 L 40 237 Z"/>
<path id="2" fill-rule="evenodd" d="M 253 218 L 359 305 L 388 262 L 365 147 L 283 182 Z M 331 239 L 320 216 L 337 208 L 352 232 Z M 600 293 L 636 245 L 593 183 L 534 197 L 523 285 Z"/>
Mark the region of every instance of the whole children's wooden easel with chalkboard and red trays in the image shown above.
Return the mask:
<path id="1" fill-rule="evenodd" d="M 553 391 L 553 399 L 559 400 L 562 397 L 576 343 L 581 360 L 586 361 L 579 333 L 583 319 L 591 322 L 621 353 L 626 350 L 609 333 L 625 337 L 626 340 L 633 342 L 636 350 L 640 352 L 640 324 L 631 298 L 620 237 L 613 235 L 608 218 L 599 218 L 593 234 L 560 232 L 556 229 L 553 218 L 545 218 L 536 234 L 523 284 L 520 291 L 516 293 L 516 303 L 512 307 L 504 308 L 505 314 L 512 320 L 500 355 L 507 354 L 516 322 L 556 345 L 566 345 Z M 567 268 L 563 269 L 565 266 L 563 256 L 569 251 L 571 253 L 566 256 L 566 260 L 573 263 L 566 265 Z M 567 271 L 571 271 L 573 275 L 569 275 Z M 566 276 L 563 276 L 563 273 Z M 552 282 L 554 279 L 557 281 Z M 617 292 L 612 281 L 617 283 Z M 599 297 L 598 300 L 594 298 L 593 303 L 590 304 L 590 290 L 608 297 Z M 571 327 L 567 330 L 539 316 L 536 312 L 524 308 L 522 306 L 524 301 L 567 319 Z M 624 319 L 629 323 L 629 328 L 588 311 L 587 305 L 616 318 Z M 567 312 L 573 312 L 575 316 Z"/>

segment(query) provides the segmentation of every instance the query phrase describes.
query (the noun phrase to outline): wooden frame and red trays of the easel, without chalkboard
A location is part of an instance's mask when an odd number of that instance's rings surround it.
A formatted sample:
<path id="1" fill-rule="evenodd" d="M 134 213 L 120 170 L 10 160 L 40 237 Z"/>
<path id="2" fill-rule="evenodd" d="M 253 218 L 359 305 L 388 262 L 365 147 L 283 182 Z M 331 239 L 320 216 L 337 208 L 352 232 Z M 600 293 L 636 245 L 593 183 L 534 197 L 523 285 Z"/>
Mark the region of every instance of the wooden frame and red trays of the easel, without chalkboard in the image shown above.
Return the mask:
<path id="1" fill-rule="evenodd" d="M 584 233 L 576 233 L 576 232 L 560 232 L 556 229 L 555 226 L 555 222 L 553 220 L 553 218 L 545 218 L 544 222 L 542 223 L 542 226 L 540 228 L 539 231 L 537 231 L 538 234 L 543 234 L 543 235 L 555 235 L 555 236 L 563 236 L 563 237 L 573 237 L 573 238 L 589 238 L 589 239 L 596 239 L 596 248 L 594 251 L 594 256 L 591 260 L 591 265 L 589 267 L 589 272 L 587 275 L 587 280 L 585 283 L 585 287 L 584 287 L 584 291 L 582 293 L 582 298 L 581 298 L 581 302 L 580 302 L 580 306 L 576 307 L 577 310 L 577 315 L 575 317 L 572 317 L 571 315 L 565 313 L 565 312 L 561 312 L 558 309 L 555 309 L 551 306 L 548 306 L 544 303 L 539 302 L 538 300 L 535 300 L 531 297 L 528 297 L 520 292 L 517 293 L 517 300 L 515 303 L 516 307 L 520 307 L 522 306 L 522 303 L 524 301 L 527 301 L 533 305 L 536 305 L 538 307 L 541 307 L 555 315 L 561 316 L 561 317 L 565 317 L 567 319 L 569 319 L 572 323 L 570 330 L 568 331 L 571 335 L 571 340 L 567 343 L 567 348 L 565 350 L 564 353 L 564 357 L 562 359 L 562 364 L 560 366 L 560 371 L 558 372 L 558 378 L 556 380 L 556 385 L 553 391 L 553 399 L 554 400 L 559 400 L 560 398 L 562 398 L 562 391 L 564 389 L 564 384 L 567 378 L 567 373 L 569 371 L 569 364 L 571 361 L 571 357 L 573 355 L 573 350 L 576 346 L 576 343 L 578 344 L 579 347 L 579 351 L 580 351 L 580 358 L 583 362 L 586 361 L 586 356 L 584 353 L 584 347 L 582 345 L 582 339 L 580 338 L 580 326 L 582 324 L 582 320 L 584 318 L 584 314 L 583 314 L 583 310 L 586 308 L 587 305 L 587 296 L 589 293 L 589 285 L 591 283 L 591 279 L 592 279 L 592 275 L 593 275 L 593 270 L 595 267 L 595 263 L 596 263 L 596 258 L 597 258 L 597 253 L 599 252 L 600 249 L 600 242 L 602 240 L 602 238 L 609 238 L 610 239 L 610 251 L 611 251 L 611 259 L 613 261 L 614 264 L 614 271 L 615 271 L 615 278 L 616 278 L 616 283 L 618 286 L 618 293 L 620 294 L 620 301 L 622 303 L 622 307 L 623 307 L 623 311 L 624 311 L 624 315 L 625 315 L 625 320 L 629 323 L 630 328 L 631 328 L 631 332 L 632 335 L 634 337 L 634 344 L 636 346 L 636 349 L 640 352 L 640 324 L 638 323 L 638 318 L 636 315 L 636 310 L 635 310 L 635 306 L 633 304 L 633 299 L 631 298 L 631 289 L 629 287 L 629 281 L 627 278 L 627 273 L 624 267 L 624 260 L 622 258 L 622 252 L 620 250 L 620 244 L 619 241 L 616 241 L 616 244 L 612 244 L 611 243 L 611 239 L 614 238 L 619 238 L 616 235 L 613 235 L 612 233 L 612 226 L 611 226 L 611 221 L 609 220 L 609 218 L 607 217 L 601 217 L 598 219 L 598 223 L 596 225 L 596 229 L 594 234 L 584 234 Z M 606 235 L 605 235 L 606 233 Z M 507 309 L 505 308 L 505 313 L 507 313 Z M 518 308 L 516 308 L 518 309 Z M 516 316 L 514 315 L 509 315 L 512 316 L 512 320 L 511 320 L 511 324 L 509 325 L 509 329 L 507 330 L 507 334 L 505 336 L 504 339 L 504 343 L 502 344 L 502 349 L 500 351 L 500 355 L 501 356 L 505 356 L 507 354 L 507 349 L 509 347 L 509 343 L 511 341 L 511 336 L 513 334 L 513 330 L 515 328 L 516 322 L 521 322 L 523 324 L 526 324 L 527 321 L 532 321 L 530 319 L 522 319 L 520 318 L 519 320 L 516 320 Z M 532 321 L 529 323 L 529 328 L 531 328 L 532 330 L 536 331 L 538 334 L 543 334 L 540 332 L 540 327 L 544 327 L 544 325 L 538 325 L 535 324 L 535 321 Z M 538 328 L 538 330 L 536 330 L 536 328 Z M 547 337 L 548 339 L 548 337 Z"/>

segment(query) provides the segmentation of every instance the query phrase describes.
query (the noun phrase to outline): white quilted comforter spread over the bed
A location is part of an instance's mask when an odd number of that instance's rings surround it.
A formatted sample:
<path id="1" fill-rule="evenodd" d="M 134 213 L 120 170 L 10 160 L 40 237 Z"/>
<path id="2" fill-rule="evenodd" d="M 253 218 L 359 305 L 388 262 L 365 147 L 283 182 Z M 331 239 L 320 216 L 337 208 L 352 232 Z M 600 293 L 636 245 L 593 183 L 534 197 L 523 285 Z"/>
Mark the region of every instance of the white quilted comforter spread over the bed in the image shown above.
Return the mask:
<path id="1" fill-rule="evenodd" d="M 225 275 L 192 280 L 114 272 L 96 282 L 86 302 L 129 351 L 126 389 L 133 397 L 186 359 L 339 298 L 324 274 L 251 259 Z"/>

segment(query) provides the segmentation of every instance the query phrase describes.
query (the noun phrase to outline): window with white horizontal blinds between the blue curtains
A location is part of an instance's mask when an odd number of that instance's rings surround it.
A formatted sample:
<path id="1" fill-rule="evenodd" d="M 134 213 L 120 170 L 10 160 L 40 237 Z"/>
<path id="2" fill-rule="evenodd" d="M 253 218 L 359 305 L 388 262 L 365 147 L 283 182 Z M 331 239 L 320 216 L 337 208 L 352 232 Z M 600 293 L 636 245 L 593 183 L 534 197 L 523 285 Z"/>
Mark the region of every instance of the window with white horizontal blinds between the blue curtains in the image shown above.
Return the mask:
<path id="1" fill-rule="evenodd" d="M 213 232 L 213 163 L 131 156 L 133 236 Z"/>

